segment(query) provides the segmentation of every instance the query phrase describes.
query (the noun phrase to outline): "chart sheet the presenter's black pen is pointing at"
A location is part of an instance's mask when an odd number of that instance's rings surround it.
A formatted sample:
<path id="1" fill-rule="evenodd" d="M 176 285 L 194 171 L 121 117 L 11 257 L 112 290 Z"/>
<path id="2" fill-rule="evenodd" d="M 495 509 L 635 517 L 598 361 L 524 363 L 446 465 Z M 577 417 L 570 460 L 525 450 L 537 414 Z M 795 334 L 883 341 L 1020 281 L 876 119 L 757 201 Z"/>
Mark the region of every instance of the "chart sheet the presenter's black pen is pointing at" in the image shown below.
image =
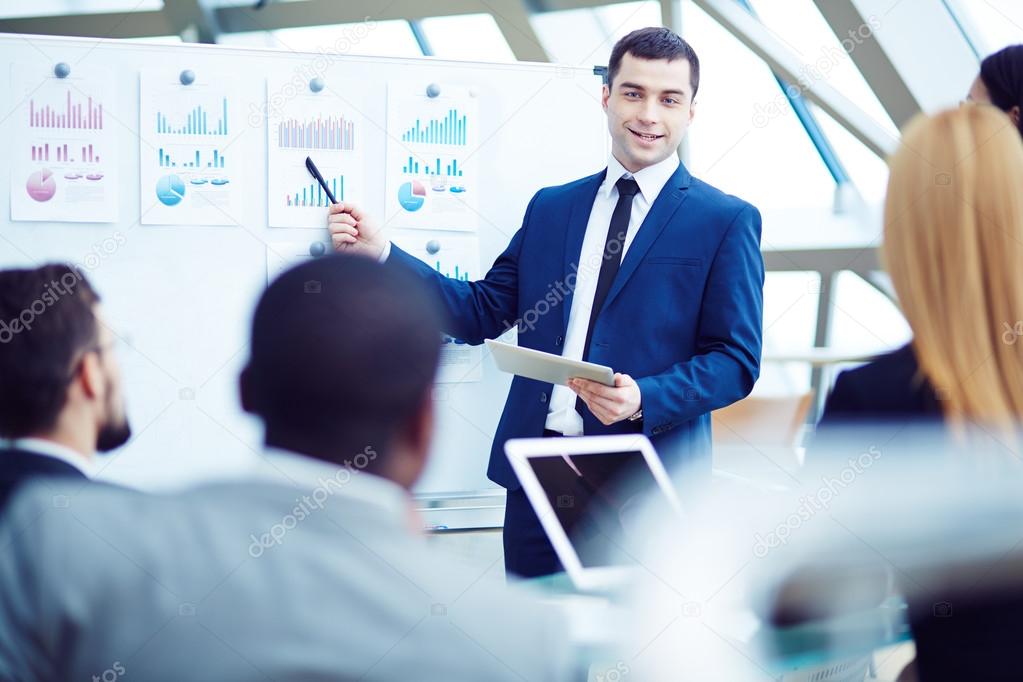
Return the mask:
<path id="1" fill-rule="evenodd" d="M 330 200 L 306 169 L 306 157 L 312 158 L 336 199 L 361 200 L 362 88 L 329 83 L 319 92 L 283 97 L 281 93 L 294 89 L 291 80 L 271 78 L 268 87 L 270 227 L 322 227 Z"/>

